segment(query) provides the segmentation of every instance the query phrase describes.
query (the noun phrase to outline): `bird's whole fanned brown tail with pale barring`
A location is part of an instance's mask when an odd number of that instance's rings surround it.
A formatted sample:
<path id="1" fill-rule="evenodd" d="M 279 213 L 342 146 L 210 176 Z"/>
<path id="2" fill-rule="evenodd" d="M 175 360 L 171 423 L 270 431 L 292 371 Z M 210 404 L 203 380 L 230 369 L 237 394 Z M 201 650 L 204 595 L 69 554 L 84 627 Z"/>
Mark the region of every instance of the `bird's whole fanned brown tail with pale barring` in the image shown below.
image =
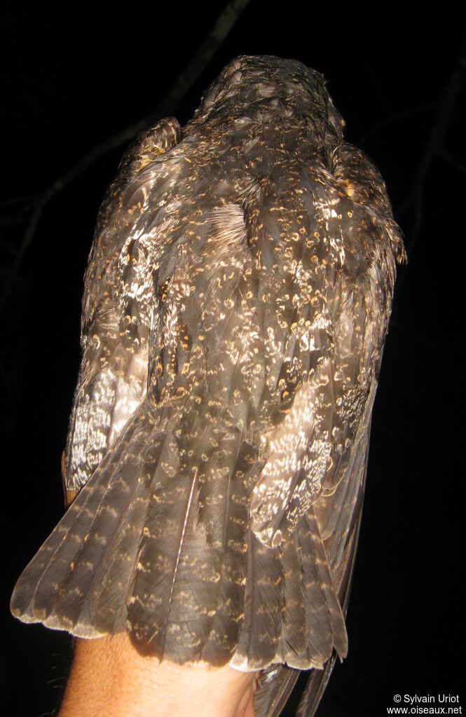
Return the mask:
<path id="1" fill-rule="evenodd" d="M 333 647 L 344 657 L 313 511 L 280 546 L 263 545 L 248 526 L 252 449 L 225 434 L 187 470 L 169 422 L 162 431 L 150 421 L 135 416 L 77 495 L 19 578 L 13 614 L 77 637 L 128 631 L 145 652 L 177 663 L 309 669 Z"/>

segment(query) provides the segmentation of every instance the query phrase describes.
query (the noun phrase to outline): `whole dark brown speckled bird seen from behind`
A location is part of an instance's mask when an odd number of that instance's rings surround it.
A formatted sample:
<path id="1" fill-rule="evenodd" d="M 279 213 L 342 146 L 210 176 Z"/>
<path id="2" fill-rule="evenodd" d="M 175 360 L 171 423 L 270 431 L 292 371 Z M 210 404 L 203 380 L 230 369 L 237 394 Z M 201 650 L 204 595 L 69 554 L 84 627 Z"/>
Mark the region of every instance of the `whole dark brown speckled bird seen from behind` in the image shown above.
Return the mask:
<path id="1" fill-rule="evenodd" d="M 296 670 L 335 652 L 395 263 L 384 181 L 323 77 L 239 57 L 125 153 L 85 274 L 64 518 L 11 610 L 78 637 Z M 333 652 L 335 648 L 335 652 Z M 315 675 L 315 676 L 313 676 Z"/>

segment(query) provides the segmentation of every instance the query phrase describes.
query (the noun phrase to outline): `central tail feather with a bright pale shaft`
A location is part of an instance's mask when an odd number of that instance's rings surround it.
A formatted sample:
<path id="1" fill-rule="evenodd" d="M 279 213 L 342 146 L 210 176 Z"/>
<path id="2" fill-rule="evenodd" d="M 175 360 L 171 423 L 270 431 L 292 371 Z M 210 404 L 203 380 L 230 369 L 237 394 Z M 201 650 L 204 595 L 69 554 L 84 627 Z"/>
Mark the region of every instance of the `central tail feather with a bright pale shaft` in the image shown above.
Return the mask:
<path id="1" fill-rule="evenodd" d="M 214 609 L 204 582 L 215 566 L 206 561 L 204 533 L 195 530 L 197 480 L 194 471 L 177 476 L 176 490 L 156 489 L 128 602 L 135 640 L 175 662 L 199 659 Z"/>

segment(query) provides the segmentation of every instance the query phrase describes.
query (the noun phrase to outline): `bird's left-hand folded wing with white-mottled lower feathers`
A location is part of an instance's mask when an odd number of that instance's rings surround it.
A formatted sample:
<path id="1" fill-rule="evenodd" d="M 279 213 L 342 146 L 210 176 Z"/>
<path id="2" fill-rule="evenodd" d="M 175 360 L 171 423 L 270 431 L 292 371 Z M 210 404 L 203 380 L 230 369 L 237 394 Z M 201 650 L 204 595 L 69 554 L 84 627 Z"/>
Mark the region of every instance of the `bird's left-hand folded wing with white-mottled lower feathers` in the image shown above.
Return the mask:
<path id="1" fill-rule="evenodd" d="M 154 159 L 179 138 L 175 118 L 142 133 L 123 156 L 100 207 L 85 275 L 82 361 L 65 452 L 70 493 L 85 485 L 146 395 L 151 317 L 138 310 L 141 293 L 137 301 L 133 294 L 146 279 L 138 272 L 148 267 L 138 257 L 135 227 L 158 168 Z"/>

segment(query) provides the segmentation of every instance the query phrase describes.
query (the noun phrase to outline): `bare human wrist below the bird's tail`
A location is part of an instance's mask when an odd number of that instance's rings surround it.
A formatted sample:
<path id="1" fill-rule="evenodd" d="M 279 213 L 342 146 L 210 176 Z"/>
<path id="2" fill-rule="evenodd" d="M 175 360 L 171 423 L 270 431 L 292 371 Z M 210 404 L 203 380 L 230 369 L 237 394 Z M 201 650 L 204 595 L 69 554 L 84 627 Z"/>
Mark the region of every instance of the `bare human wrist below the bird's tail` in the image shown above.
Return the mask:
<path id="1" fill-rule="evenodd" d="M 76 640 L 58 717 L 254 717 L 257 673 L 140 655 L 128 635 Z"/>

